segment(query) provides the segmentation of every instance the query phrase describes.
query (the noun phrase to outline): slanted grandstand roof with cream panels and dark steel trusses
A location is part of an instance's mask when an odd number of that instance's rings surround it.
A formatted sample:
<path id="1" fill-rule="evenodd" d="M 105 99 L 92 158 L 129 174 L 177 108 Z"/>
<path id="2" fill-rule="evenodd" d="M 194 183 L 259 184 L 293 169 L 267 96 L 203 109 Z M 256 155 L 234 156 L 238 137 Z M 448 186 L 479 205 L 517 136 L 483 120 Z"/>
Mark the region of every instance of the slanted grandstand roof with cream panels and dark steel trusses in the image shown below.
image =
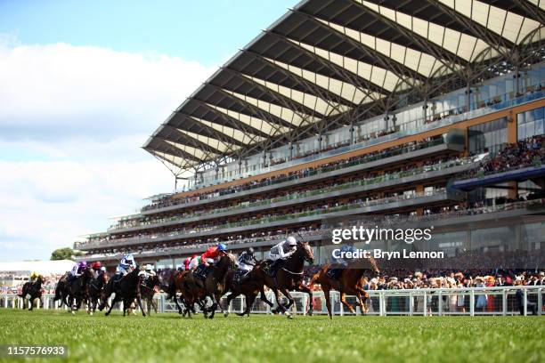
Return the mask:
<path id="1" fill-rule="evenodd" d="M 220 164 L 497 76 L 535 57 L 543 3 L 304 0 L 183 101 L 143 149 L 178 170 Z"/>

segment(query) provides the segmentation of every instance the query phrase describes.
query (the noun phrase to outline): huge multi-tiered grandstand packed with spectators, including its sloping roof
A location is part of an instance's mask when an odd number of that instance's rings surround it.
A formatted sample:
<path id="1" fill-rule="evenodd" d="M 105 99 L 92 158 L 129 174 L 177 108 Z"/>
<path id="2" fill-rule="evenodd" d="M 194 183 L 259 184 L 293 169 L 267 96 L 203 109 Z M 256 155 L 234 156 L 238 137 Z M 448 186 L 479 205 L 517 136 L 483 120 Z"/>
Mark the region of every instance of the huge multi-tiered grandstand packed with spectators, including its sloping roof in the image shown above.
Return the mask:
<path id="1" fill-rule="evenodd" d="M 544 22 L 526 0 L 302 1 L 143 145 L 183 187 L 75 248 L 177 267 L 299 233 L 323 263 L 331 218 L 379 216 L 542 267 Z"/>

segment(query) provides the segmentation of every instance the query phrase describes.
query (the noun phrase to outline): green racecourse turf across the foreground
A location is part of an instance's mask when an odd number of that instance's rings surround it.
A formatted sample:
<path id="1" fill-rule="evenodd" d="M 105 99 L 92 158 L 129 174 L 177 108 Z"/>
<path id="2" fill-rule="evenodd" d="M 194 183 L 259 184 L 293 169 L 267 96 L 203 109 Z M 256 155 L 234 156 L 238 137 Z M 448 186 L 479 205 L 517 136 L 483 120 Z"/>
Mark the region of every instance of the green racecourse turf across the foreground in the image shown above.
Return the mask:
<path id="1" fill-rule="evenodd" d="M 0 344 L 66 344 L 73 362 L 545 361 L 545 317 L 112 314 L 0 309 Z"/>

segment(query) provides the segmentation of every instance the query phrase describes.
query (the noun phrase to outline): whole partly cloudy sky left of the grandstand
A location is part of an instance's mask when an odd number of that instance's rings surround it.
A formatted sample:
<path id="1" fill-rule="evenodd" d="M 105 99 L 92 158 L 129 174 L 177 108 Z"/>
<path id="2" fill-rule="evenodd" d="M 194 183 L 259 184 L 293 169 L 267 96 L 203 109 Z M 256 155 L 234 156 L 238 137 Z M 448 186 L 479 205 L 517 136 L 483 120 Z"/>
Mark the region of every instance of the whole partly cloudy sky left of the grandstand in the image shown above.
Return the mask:
<path id="1" fill-rule="evenodd" d="M 295 4 L 0 0 L 0 262 L 49 259 L 172 191 L 142 144 Z"/>

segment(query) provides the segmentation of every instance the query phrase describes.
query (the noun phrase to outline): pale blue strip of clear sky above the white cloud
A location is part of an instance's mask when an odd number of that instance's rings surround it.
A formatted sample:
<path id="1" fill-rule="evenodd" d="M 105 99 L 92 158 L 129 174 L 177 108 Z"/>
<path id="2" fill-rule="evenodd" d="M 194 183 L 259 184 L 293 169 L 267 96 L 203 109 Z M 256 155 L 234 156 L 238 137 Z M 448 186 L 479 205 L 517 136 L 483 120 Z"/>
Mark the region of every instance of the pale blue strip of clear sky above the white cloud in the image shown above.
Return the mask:
<path id="1" fill-rule="evenodd" d="M 0 33 L 23 44 L 99 45 L 217 65 L 297 0 L 0 1 Z"/>

